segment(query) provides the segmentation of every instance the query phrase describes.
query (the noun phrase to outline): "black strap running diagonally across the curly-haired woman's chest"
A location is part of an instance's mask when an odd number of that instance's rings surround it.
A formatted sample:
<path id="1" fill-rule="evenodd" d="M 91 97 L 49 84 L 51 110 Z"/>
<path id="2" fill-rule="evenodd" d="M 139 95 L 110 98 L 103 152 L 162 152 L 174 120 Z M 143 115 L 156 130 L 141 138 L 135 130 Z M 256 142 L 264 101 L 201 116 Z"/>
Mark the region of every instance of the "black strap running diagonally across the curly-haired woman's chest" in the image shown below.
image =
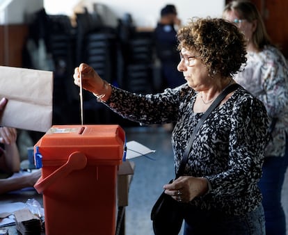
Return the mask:
<path id="1" fill-rule="evenodd" d="M 198 124 L 196 125 L 191 138 L 189 140 L 189 143 L 185 149 L 185 152 L 183 154 L 183 158 L 182 161 L 179 165 L 179 169 L 176 173 L 176 178 L 180 177 L 181 175 L 183 175 L 184 169 L 185 169 L 185 165 L 188 161 L 188 156 L 189 156 L 189 152 L 193 143 L 193 140 L 195 138 L 196 133 L 198 132 L 198 130 L 200 129 L 202 123 L 206 120 L 206 118 L 210 115 L 210 113 L 214 110 L 214 108 L 216 108 L 221 101 L 226 97 L 226 95 L 228 95 L 230 92 L 236 90 L 237 88 L 239 88 L 239 84 L 237 83 L 233 83 L 230 86 L 227 86 L 220 95 L 218 95 L 218 97 L 214 100 L 214 102 L 209 106 L 209 108 L 207 109 L 207 111 L 202 115 L 202 117 L 200 118 Z"/>

